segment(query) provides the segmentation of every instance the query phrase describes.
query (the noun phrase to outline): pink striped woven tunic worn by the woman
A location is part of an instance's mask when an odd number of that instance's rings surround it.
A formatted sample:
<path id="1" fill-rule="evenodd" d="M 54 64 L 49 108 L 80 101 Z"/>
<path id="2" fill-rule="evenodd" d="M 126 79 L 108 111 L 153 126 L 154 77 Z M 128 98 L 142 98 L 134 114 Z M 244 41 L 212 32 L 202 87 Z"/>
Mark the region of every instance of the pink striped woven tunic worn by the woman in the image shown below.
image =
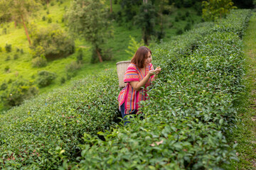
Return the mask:
<path id="1" fill-rule="evenodd" d="M 124 103 L 124 114 L 132 113 L 132 111 L 138 109 L 139 101 L 145 101 L 146 100 L 146 87 L 150 86 L 151 79 L 154 77 L 151 76 L 149 81 L 145 85 L 145 89 L 140 89 L 139 91 L 135 91 L 131 84 L 129 84 L 130 81 L 142 81 L 146 74 L 149 73 L 149 70 L 154 69 L 153 65 L 150 63 L 149 67 L 146 67 L 145 72 L 142 73 L 142 70 L 136 67 L 135 64 L 131 63 L 129 64 L 127 71 L 124 74 L 124 83 L 127 83 L 127 85 L 120 91 L 118 96 L 118 102 L 119 102 L 119 108 Z"/>

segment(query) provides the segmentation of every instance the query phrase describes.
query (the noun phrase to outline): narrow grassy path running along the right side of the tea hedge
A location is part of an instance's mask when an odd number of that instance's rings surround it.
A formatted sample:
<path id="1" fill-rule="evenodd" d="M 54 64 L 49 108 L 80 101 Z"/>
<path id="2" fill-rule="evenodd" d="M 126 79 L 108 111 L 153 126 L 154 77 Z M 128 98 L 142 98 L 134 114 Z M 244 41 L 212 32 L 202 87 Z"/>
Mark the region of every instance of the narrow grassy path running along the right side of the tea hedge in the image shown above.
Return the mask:
<path id="1" fill-rule="evenodd" d="M 245 37 L 245 63 L 247 73 L 245 84 L 247 94 L 244 109 L 240 111 L 241 121 L 228 137 L 236 147 L 239 162 L 232 162 L 225 169 L 256 169 L 256 13 L 252 16 Z"/>

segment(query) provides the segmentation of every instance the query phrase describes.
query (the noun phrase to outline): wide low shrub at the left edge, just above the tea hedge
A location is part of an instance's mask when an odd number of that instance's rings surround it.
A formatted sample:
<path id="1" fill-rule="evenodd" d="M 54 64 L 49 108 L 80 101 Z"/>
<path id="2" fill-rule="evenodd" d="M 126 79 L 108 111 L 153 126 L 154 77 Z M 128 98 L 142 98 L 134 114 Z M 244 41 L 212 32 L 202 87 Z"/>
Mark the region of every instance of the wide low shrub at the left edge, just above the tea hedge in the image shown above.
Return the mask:
<path id="1" fill-rule="evenodd" d="M 8 107 L 18 106 L 24 100 L 35 96 L 37 93 L 38 89 L 30 81 L 20 79 L 13 81 L 9 88 L 4 90 L 1 94 L 1 100 Z"/>

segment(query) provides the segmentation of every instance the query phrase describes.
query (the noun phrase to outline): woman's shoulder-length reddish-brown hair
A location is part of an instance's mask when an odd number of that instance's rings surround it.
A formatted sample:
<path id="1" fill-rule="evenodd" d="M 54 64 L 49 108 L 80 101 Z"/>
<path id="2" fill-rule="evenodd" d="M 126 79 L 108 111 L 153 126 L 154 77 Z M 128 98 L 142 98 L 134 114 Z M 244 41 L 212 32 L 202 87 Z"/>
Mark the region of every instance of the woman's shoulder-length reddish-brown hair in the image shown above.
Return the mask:
<path id="1" fill-rule="evenodd" d="M 151 54 L 151 50 L 149 50 L 148 47 L 145 47 L 145 46 L 139 47 L 134 57 L 132 57 L 131 62 L 134 63 L 137 67 L 143 68 L 144 61 L 147 55 L 149 54 L 149 52 Z"/>

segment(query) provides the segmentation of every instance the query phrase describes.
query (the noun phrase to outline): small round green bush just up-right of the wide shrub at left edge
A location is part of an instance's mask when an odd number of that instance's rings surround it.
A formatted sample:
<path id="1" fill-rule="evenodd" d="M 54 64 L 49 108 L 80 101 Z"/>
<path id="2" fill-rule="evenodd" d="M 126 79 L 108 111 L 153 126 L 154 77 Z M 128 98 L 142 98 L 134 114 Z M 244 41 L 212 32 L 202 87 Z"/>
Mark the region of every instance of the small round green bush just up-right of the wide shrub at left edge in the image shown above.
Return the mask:
<path id="1" fill-rule="evenodd" d="M 45 87 L 49 86 L 55 78 L 55 73 L 43 70 L 38 72 L 38 78 L 36 79 L 36 82 L 39 87 Z"/>

